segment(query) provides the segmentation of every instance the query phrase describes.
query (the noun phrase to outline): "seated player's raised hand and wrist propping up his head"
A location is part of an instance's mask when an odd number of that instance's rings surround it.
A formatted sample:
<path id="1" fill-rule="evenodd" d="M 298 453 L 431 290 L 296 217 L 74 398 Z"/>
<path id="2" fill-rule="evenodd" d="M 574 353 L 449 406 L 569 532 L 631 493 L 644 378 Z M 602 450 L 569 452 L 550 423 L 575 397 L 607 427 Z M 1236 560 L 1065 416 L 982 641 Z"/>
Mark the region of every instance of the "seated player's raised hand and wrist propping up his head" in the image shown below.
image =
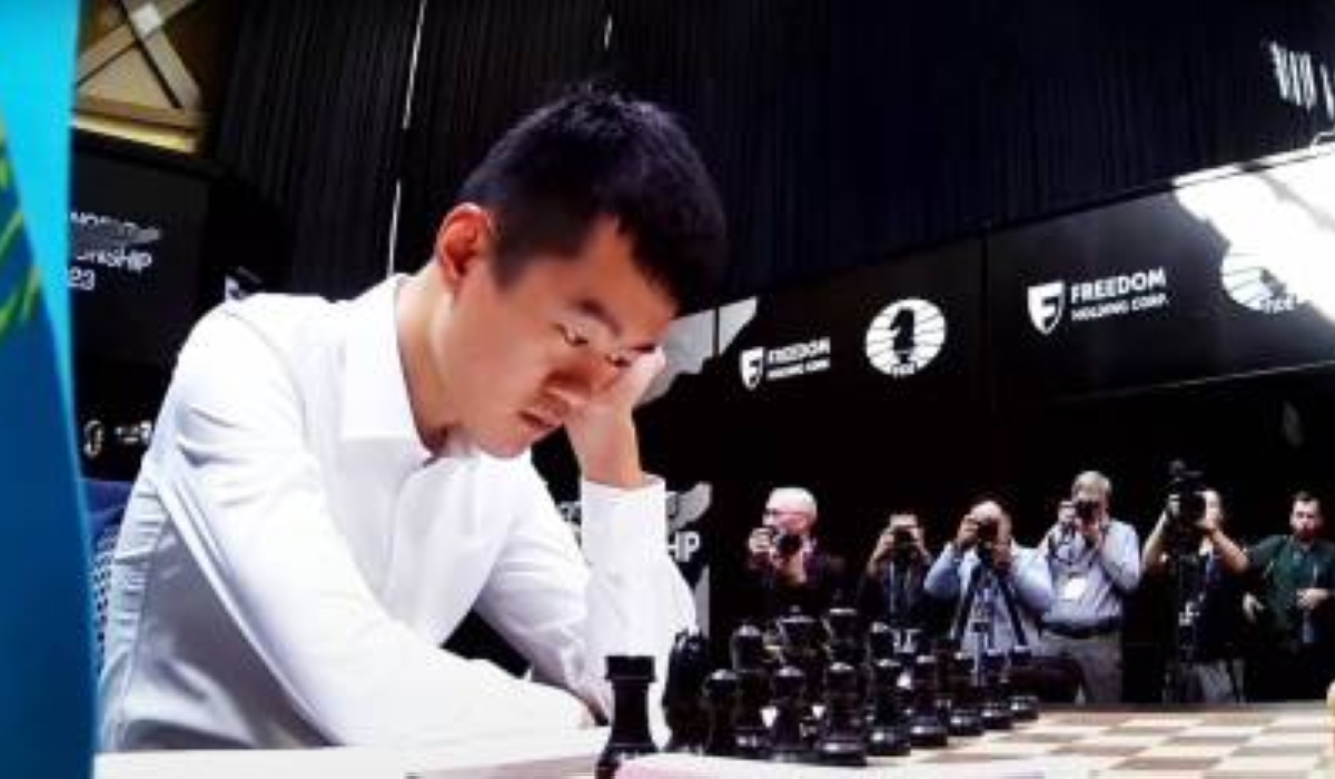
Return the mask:
<path id="1" fill-rule="evenodd" d="M 666 365 L 661 347 L 641 355 L 566 418 L 566 434 L 586 480 L 625 489 L 643 486 L 633 412 Z"/>

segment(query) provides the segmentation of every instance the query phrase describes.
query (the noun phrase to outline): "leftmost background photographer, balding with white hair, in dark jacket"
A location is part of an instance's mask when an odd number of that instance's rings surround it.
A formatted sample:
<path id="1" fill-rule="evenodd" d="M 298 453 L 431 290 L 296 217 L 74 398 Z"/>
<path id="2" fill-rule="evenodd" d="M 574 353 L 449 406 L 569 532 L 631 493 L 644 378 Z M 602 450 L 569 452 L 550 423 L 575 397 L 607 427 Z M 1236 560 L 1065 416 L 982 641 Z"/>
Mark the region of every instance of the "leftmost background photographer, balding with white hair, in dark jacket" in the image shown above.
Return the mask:
<path id="1" fill-rule="evenodd" d="M 816 497 L 798 486 L 769 493 L 764 524 L 746 540 L 753 616 L 770 620 L 794 608 L 820 616 L 844 596 L 846 565 L 818 548 Z"/>

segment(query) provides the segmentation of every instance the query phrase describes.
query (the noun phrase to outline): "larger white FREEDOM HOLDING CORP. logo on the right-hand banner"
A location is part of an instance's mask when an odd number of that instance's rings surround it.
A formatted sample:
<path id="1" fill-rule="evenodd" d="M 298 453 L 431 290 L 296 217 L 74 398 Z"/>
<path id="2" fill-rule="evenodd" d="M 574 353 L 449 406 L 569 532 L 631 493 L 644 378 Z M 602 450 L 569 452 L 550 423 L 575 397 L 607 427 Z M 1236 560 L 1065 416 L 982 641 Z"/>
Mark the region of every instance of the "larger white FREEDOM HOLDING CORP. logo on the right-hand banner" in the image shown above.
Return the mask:
<path id="1" fill-rule="evenodd" d="M 1029 321 L 1044 335 L 1061 323 L 1063 311 L 1075 323 L 1164 309 L 1168 306 L 1168 271 L 1155 267 L 1093 281 L 1033 285 L 1028 306 Z"/>

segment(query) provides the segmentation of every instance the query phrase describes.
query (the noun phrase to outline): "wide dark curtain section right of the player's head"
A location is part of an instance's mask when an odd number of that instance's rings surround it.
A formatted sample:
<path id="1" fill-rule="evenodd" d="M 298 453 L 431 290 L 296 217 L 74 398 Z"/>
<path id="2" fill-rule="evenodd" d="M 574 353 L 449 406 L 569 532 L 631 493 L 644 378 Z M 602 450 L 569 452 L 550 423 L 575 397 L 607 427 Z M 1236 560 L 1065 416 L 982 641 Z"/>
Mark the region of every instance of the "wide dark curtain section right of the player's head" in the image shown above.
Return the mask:
<path id="1" fill-rule="evenodd" d="M 611 69 L 684 114 L 733 234 L 722 298 L 1306 146 L 1278 41 L 1330 0 L 610 0 Z"/>

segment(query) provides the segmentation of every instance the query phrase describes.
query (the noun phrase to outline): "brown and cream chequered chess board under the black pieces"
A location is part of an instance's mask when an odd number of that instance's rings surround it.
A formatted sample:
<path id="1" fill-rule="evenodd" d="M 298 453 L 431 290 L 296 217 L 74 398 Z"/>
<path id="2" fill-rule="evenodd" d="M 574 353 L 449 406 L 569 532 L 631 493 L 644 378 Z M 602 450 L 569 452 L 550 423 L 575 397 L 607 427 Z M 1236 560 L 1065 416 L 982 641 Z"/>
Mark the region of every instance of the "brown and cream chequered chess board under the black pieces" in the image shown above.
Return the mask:
<path id="1" fill-rule="evenodd" d="M 1335 776 L 1331 719 L 1324 706 L 1279 704 L 1200 710 L 1045 711 L 1036 723 L 975 739 L 952 739 L 944 750 L 914 750 L 904 758 L 873 758 L 866 768 L 821 768 L 781 763 L 654 755 L 622 768 L 622 779 L 705 776 L 786 779 L 797 776 L 1175 776 L 1308 779 Z M 595 756 L 495 766 L 470 776 L 593 776 Z M 455 779 L 462 774 L 423 774 Z"/>

